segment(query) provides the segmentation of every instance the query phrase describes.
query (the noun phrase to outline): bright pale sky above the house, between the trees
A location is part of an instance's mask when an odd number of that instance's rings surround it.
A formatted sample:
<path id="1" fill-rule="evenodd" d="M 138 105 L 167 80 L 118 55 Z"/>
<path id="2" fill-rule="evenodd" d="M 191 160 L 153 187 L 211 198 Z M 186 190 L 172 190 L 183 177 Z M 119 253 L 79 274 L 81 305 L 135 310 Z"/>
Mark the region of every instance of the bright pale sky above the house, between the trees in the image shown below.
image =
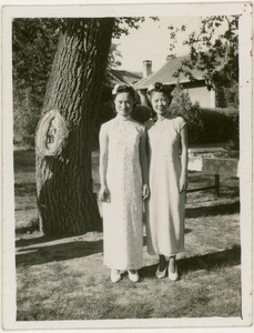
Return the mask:
<path id="1" fill-rule="evenodd" d="M 119 44 L 118 50 L 122 54 L 122 62 L 119 69 L 129 71 L 142 71 L 143 61 L 152 61 L 152 71 L 159 70 L 165 62 L 166 56 L 170 53 L 185 54 L 187 47 L 182 46 L 182 41 L 186 34 L 199 30 L 200 17 L 174 17 L 160 18 L 160 21 L 153 21 L 146 18 L 143 23 L 140 23 L 140 29 L 130 29 L 129 36 L 121 36 L 120 39 L 113 40 Z M 179 42 L 174 51 L 170 51 L 170 33 L 169 26 L 181 27 L 186 26 L 186 31 L 179 34 Z"/>

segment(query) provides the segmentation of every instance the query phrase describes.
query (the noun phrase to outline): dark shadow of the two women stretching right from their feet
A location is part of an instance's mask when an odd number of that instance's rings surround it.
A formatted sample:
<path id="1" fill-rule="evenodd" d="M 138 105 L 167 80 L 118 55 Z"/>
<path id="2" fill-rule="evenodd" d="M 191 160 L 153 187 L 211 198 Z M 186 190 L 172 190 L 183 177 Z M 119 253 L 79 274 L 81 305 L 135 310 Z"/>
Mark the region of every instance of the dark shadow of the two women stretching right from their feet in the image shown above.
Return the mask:
<path id="1" fill-rule="evenodd" d="M 211 271 L 219 268 L 231 268 L 241 264 L 241 246 L 235 245 L 232 249 L 221 252 L 209 253 L 184 258 L 177 261 L 180 278 L 192 271 Z M 154 279 L 158 264 L 144 266 L 140 270 L 141 278 Z"/>

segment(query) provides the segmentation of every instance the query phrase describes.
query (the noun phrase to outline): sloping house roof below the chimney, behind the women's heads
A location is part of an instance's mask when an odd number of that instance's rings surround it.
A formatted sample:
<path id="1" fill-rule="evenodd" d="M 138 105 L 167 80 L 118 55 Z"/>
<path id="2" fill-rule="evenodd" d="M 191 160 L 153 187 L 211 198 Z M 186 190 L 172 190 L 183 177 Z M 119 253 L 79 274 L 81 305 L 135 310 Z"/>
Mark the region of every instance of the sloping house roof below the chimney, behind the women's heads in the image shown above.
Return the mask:
<path id="1" fill-rule="evenodd" d="M 162 82 L 163 84 L 176 84 L 177 77 L 176 72 L 177 69 L 182 65 L 182 61 L 189 60 L 190 56 L 182 56 L 177 58 L 170 58 L 166 63 L 156 72 L 151 73 L 149 77 L 141 79 L 138 81 L 134 87 L 135 89 L 146 89 L 150 84 L 154 82 Z M 203 78 L 204 72 L 201 70 L 193 69 L 192 75 L 195 80 L 204 80 Z M 183 73 L 180 74 L 180 82 L 190 82 L 189 77 L 184 75 Z"/>

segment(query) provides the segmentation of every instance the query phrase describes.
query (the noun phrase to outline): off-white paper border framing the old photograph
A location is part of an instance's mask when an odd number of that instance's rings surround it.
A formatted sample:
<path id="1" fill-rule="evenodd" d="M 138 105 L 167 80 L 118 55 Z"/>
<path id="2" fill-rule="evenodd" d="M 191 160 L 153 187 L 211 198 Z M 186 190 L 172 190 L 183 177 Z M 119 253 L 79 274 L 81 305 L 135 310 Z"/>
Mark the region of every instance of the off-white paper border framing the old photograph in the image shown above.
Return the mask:
<path id="1" fill-rule="evenodd" d="M 2 1 L 2 325 L 4 330 L 69 330 L 69 329 L 230 329 L 230 332 L 251 327 L 253 323 L 253 27 L 252 2 L 182 2 L 170 1 Z M 93 4 L 89 4 L 93 3 Z M 115 3 L 118 2 L 118 3 Z M 11 21 L 13 18 L 37 17 L 149 17 L 158 16 L 212 16 L 241 14 L 240 18 L 240 179 L 241 179 L 241 245 L 242 245 L 242 319 L 156 319 L 108 321 L 16 321 L 16 264 L 14 264 L 14 191 L 13 191 L 13 119 L 12 119 L 12 67 Z M 123 330 L 124 331 L 124 330 Z M 55 331 L 54 331 L 55 332 Z M 67 331 L 65 331 L 67 332 Z"/>

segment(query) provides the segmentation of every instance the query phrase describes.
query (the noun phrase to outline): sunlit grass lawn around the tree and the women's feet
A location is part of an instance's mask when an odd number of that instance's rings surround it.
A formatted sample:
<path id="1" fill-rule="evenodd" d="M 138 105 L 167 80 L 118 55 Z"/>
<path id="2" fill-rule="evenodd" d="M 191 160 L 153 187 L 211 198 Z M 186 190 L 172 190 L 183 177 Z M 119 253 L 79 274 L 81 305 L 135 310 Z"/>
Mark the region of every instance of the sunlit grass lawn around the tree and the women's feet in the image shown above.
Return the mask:
<path id="1" fill-rule="evenodd" d="M 93 153 L 94 192 L 99 153 Z M 139 283 L 113 284 L 103 266 L 103 235 L 45 238 L 38 231 L 34 152 L 14 151 L 17 320 L 105 320 L 241 316 L 238 179 L 221 176 L 221 195 L 187 194 L 180 280 L 156 280 L 158 258 L 146 253 Z M 190 188 L 213 184 L 190 172 Z"/>

